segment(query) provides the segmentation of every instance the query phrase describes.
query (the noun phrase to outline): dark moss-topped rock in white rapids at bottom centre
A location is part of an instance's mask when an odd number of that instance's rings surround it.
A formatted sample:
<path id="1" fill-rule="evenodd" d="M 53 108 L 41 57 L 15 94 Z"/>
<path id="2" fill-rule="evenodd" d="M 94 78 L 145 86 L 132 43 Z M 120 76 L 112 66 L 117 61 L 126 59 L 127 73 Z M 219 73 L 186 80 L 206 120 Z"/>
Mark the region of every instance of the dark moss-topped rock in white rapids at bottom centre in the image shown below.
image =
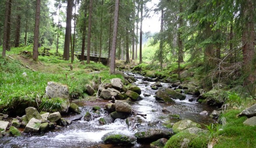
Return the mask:
<path id="1" fill-rule="evenodd" d="M 104 143 L 113 144 L 113 145 L 126 145 L 132 146 L 135 144 L 136 138 L 121 134 L 108 134 L 103 139 Z"/>

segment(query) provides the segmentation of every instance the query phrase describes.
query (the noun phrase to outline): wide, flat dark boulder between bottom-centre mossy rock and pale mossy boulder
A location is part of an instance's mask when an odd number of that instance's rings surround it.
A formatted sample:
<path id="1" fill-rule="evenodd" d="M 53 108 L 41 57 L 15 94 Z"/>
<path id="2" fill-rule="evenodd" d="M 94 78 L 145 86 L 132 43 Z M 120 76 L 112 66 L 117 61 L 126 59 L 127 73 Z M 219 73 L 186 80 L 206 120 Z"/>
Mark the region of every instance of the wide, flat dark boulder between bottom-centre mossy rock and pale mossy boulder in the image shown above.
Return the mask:
<path id="1" fill-rule="evenodd" d="M 164 130 L 159 128 L 149 128 L 144 131 L 135 133 L 137 141 L 140 142 L 153 142 L 159 138 L 170 138 L 173 135 L 171 130 Z"/>

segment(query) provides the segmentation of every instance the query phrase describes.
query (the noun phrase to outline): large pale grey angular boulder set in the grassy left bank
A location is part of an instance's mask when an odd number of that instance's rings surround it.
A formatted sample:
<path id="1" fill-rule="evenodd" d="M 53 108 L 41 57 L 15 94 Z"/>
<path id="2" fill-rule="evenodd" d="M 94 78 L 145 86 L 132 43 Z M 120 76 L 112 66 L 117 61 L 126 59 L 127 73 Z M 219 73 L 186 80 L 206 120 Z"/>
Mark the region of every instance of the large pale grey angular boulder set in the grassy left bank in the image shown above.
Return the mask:
<path id="1" fill-rule="evenodd" d="M 47 83 L 46 96 L 49 98 L 63 98 L 69 101 L 69 92 L 66 84 L 53 81 Z"/>

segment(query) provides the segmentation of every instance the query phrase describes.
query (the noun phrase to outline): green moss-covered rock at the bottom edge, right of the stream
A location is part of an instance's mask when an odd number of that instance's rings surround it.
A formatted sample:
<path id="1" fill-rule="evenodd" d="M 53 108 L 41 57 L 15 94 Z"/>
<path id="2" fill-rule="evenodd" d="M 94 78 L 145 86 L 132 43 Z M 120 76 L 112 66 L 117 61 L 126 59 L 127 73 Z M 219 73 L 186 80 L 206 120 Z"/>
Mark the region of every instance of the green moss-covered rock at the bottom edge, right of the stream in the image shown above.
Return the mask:
<path id="1" fill-rule="evenodd" d="M 190 134 L 182 131 L 173 135 L 165 144 L 164 148 L 207 148 L 208 135 L 205 133 Z"/>

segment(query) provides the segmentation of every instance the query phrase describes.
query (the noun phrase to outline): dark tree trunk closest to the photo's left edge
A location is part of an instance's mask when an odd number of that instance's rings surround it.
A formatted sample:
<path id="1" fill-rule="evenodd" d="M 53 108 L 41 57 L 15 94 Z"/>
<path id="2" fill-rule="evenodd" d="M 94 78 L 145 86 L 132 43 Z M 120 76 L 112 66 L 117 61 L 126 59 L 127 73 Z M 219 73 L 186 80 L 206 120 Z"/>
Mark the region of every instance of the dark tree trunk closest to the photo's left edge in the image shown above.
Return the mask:
<path id="1" fill-rule="evenodd" d="M 5 3 L 5 19 L 4 19 L 4 40 L 3 40 L 3 57 L 6 56 L 6 48 L 7 48 L 7 26 L 8 26 L 8 15 L 9 15 L 9 3 L 10 0 L 6 0 Z"/>

